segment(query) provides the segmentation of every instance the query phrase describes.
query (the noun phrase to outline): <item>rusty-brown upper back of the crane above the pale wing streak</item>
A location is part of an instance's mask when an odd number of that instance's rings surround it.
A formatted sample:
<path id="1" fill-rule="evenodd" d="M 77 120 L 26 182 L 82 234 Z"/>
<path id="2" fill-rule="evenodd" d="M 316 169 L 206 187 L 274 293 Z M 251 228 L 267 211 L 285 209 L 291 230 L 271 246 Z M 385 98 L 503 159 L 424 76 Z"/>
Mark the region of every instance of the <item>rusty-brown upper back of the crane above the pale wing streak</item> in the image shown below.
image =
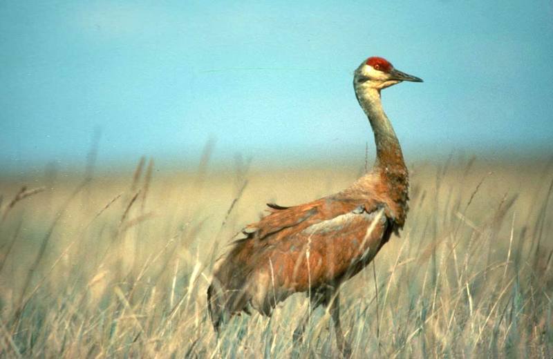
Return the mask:
<path id="1" fill-rule="evenodd" d="M 291 234 L 317 224 L 332 220 L 340 215 L 352 211 L 357 213 L 373 213 L 386 205 L 366 197 L 324 197 L 299 206 L 283 207 L 277 204 L 268 204 L 270 213 L 259 222 L 250 224 L 243 229 L 247 239 L 265 240 L 269 236 Z M 387 211 L 386 211 L 387 212 Z M 385 213 L 387 215 L 387 213 Z"/>

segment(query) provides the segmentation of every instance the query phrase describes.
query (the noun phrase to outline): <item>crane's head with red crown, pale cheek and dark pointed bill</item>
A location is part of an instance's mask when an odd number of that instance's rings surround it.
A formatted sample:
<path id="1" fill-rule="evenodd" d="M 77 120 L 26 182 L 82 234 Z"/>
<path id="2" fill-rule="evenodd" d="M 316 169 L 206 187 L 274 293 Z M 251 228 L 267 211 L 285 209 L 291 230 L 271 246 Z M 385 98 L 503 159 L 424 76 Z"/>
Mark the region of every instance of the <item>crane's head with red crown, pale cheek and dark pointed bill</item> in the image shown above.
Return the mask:
<path id="1" fill-rule="evenodd" d="M 418 77 L 407 75 L 396 70 L 390 62 L 382 57 L 369 57 L 355 70 L 353 84 L 357 87 L 382 88 L 399 84 L 402 81 L 422 82 Z"/>

